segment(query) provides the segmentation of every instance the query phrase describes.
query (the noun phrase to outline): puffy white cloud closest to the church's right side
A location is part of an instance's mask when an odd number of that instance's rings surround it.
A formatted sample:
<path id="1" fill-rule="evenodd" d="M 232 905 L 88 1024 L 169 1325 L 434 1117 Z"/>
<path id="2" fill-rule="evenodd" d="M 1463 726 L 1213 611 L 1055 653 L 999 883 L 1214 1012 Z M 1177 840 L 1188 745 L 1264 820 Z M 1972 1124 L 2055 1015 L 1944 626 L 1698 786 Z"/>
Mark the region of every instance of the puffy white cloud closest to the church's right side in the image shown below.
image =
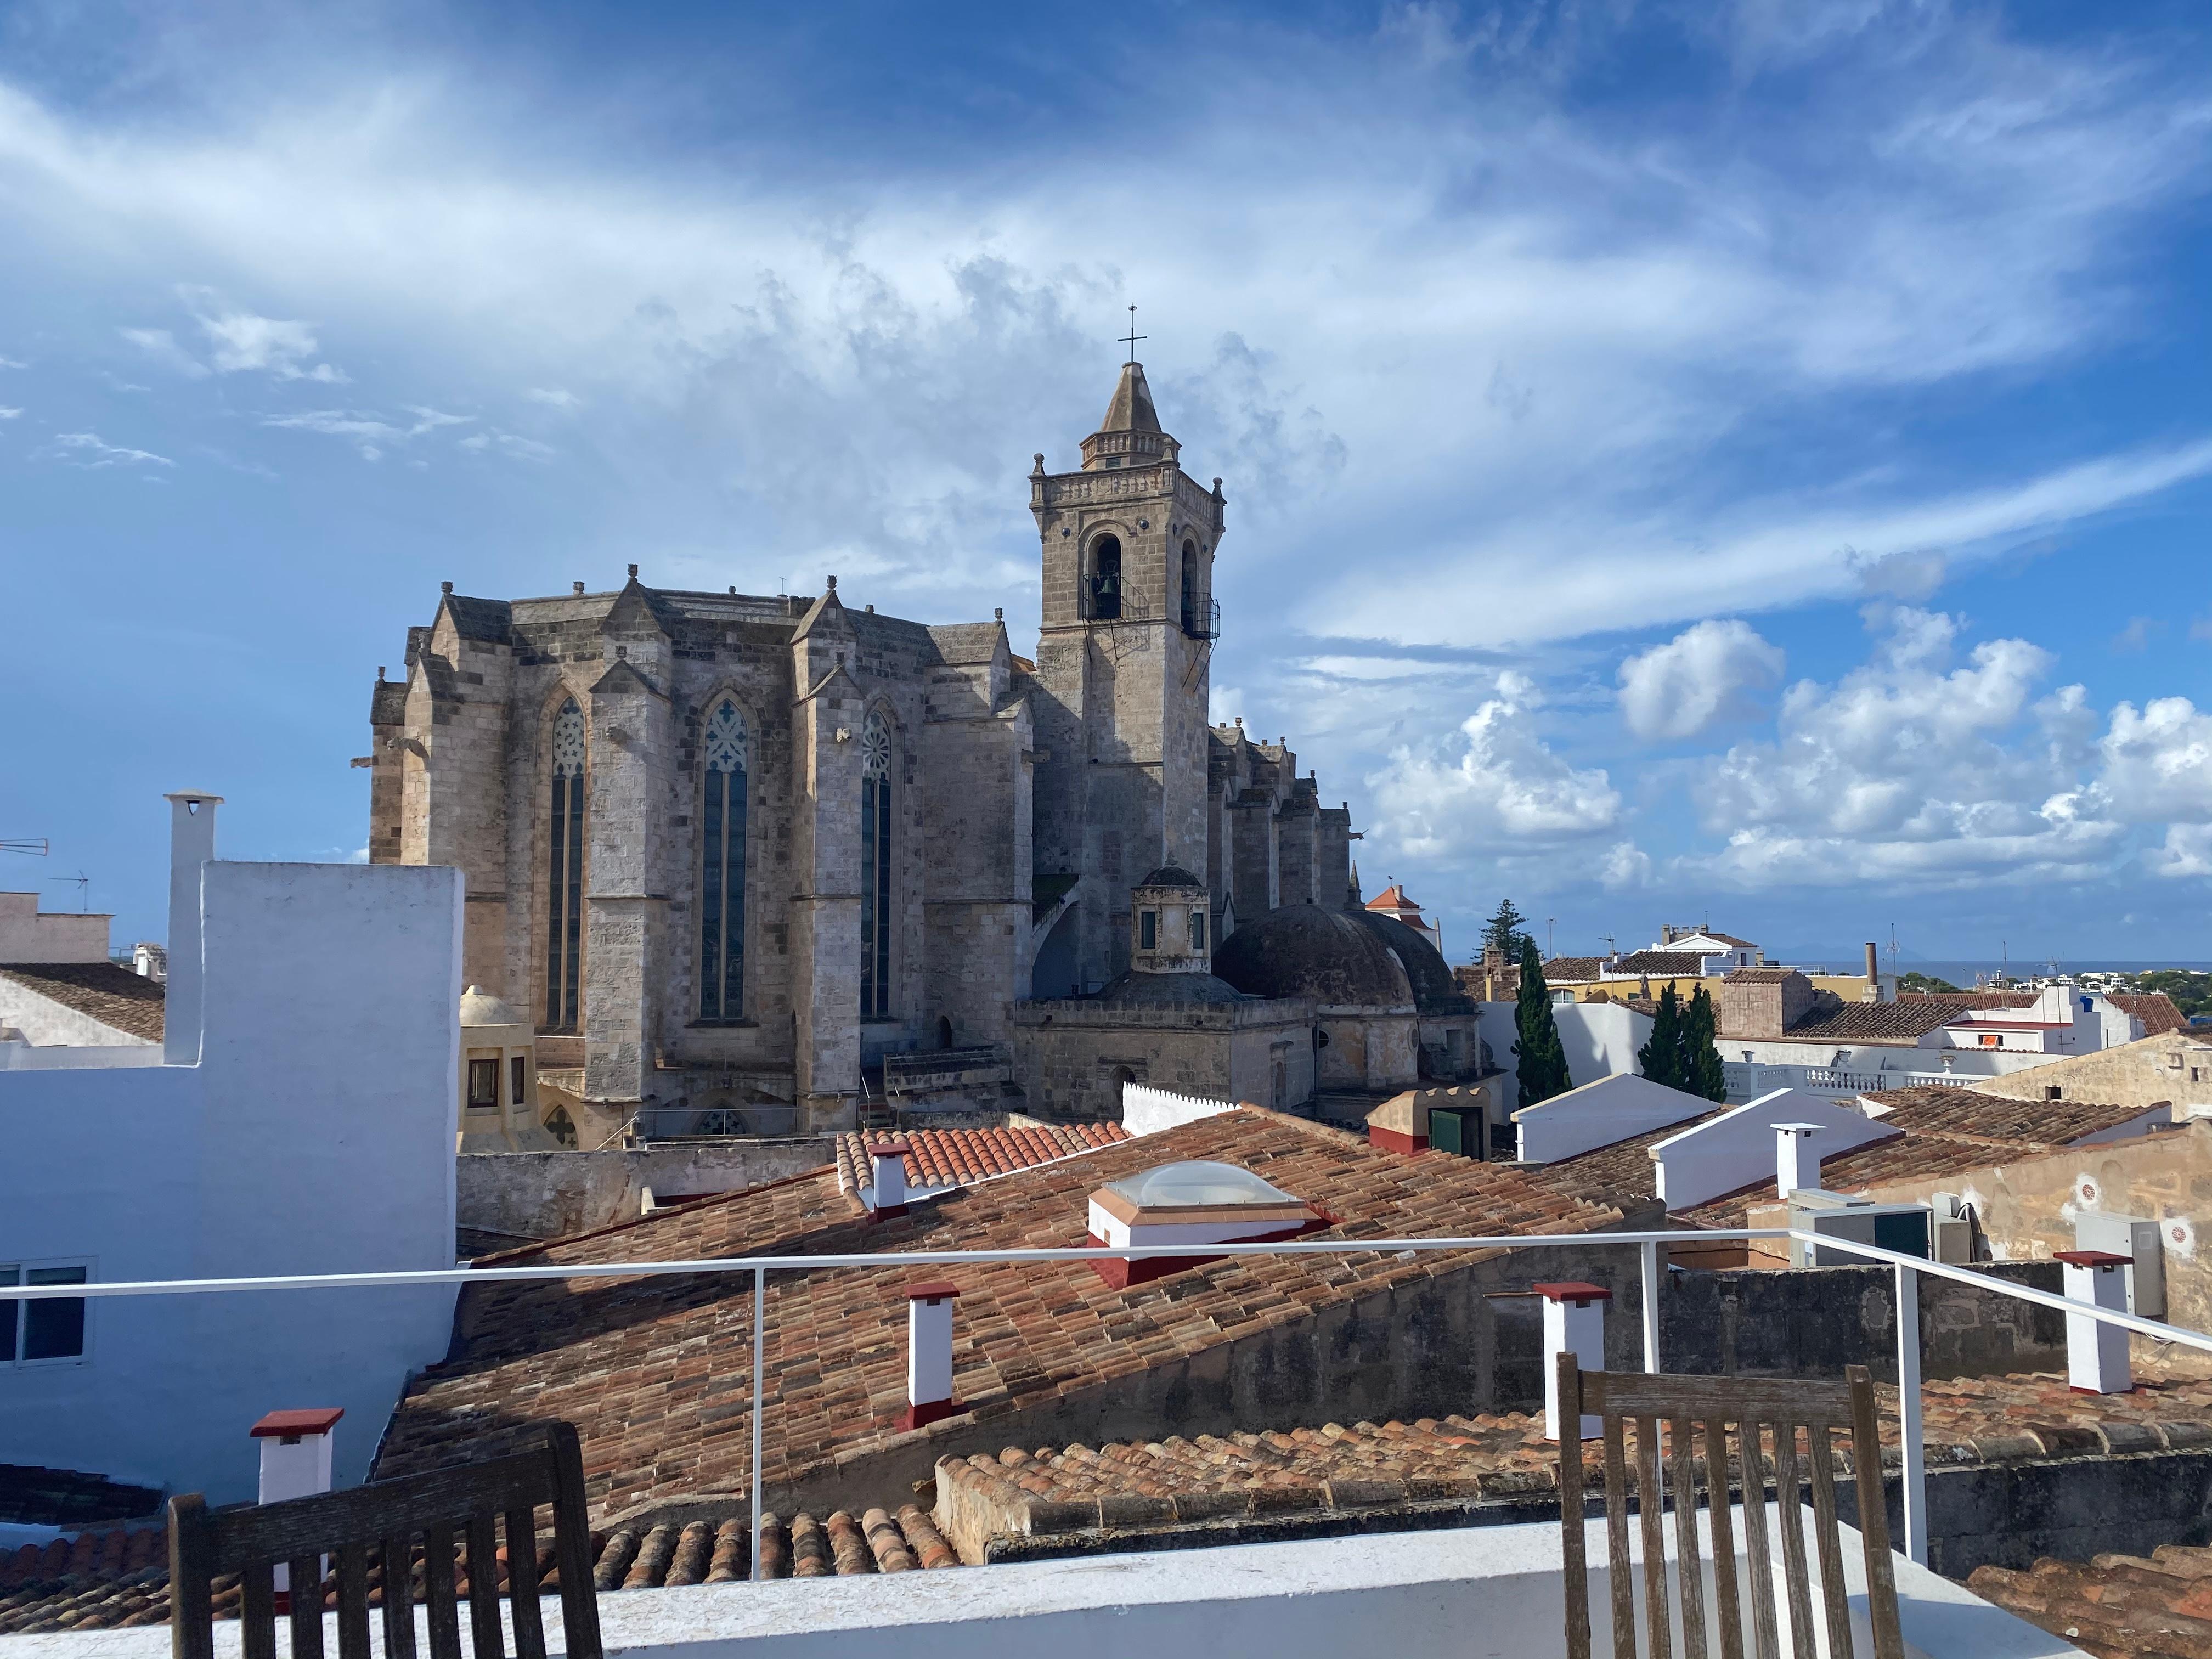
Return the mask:
<path id="1" fill-rule="evenodd" d="M 1604 770 L 1577 770 L 1537 730 L 1535 681 L 1506 670 L 1460 723 L 1460 743 L 1400 748 L 1367 779 L 1378 825 L 1413 858 L 1544 849 L 1613 830 L 1621 796 Z"/>

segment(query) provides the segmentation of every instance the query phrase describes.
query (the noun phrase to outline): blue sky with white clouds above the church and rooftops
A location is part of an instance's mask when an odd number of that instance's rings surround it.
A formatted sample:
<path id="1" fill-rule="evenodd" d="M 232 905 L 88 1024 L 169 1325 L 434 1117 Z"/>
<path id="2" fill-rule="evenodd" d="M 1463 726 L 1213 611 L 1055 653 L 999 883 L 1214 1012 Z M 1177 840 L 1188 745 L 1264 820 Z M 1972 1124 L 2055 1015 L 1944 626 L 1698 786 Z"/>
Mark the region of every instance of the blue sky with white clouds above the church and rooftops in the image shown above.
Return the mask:
<path id="1" fill-rule="evenodd" d="M 2117 20 L 2117 22 L 2115 22 Z M 0 7 L 0 887 L 365 841 L 438 582 L 1035 639 L 1126 305 L 1217 714 L 1559 949 L 2203 958 L 2199 7 Z"/>

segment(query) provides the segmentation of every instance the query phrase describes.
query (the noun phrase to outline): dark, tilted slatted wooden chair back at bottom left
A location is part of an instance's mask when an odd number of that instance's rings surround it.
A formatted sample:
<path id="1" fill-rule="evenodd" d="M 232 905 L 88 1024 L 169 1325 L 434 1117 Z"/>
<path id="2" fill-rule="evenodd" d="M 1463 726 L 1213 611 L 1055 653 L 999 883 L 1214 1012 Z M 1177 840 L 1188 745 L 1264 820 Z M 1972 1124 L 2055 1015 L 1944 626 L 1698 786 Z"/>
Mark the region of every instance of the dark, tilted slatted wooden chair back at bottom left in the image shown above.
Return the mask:
<path id="1" fill-rule="evenodd" d="M 553 1506 L 568 1659 L 602 1659 L 591 1582 L 591 1517 L 575 1429 L 546 1427 L 544 1444 L 487 1462 L 378 1480 L 281 1504 L 208 1509 L 190 1493 L 168 1502 L 168 1628 L 173 1659 L 215 1659 L 208 1593 L 241 1575 L 246 1659 L 276 1659 L 274 1568 L 290 1577 L 292 1659 L 323 1659 L 323 1555 L 336 1557 L 338 1659 L 369 1659 L 369 1548 L 383 1555 L 385 1659 L 416 1659 L 414 1540 L 422 1537 L 431 1659 L 460 1659 L 453 1540 L 469 1546 L 469 1632 L 476 1659 L 507 1659 L 500 1630 L 500 1524 L 518 1659 L 546 1659 L 538 1613 L 538 1509 Z"/>

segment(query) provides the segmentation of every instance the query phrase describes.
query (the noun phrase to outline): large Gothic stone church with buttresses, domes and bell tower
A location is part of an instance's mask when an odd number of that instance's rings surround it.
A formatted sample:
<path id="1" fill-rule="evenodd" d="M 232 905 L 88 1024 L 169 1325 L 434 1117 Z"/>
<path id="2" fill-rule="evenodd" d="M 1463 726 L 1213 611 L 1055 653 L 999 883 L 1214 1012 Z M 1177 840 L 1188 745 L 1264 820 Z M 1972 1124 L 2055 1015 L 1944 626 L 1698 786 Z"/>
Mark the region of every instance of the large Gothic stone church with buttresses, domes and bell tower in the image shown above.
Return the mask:
<path id="1" fill-rule="evenodd" d="M 1442 958 L 1360 905 L 1349 810 L 1208 723 L 1228 504 L 1144 365 L 1029 504 L 1033 659 L 1002 611 L 907 622 L 834 575 L 445 584 L 378 670 L 369 856 L 467 874 L 467 978 L 526 1011 L 542 1086 L 821 1130 L 931 1064 L 1086 1117 L 1126 1082 L 1298 1106 L 1475 1064 Z"/>

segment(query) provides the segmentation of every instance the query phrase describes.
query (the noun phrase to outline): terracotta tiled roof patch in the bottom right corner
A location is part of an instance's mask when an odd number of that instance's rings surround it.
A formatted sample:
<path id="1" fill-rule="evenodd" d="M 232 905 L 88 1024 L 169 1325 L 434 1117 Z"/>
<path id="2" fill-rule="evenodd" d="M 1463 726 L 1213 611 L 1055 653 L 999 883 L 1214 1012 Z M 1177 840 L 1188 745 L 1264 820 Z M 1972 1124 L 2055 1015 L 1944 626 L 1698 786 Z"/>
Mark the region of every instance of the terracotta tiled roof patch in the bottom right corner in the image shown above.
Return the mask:
<path id="1" fill-rule="evenodd" d="M 1978 1566 L 1966 1588 L 2097 1659 L 2212 1659 L 2212 1548 L 2044 1555 L 2026 1573 Z"/>

